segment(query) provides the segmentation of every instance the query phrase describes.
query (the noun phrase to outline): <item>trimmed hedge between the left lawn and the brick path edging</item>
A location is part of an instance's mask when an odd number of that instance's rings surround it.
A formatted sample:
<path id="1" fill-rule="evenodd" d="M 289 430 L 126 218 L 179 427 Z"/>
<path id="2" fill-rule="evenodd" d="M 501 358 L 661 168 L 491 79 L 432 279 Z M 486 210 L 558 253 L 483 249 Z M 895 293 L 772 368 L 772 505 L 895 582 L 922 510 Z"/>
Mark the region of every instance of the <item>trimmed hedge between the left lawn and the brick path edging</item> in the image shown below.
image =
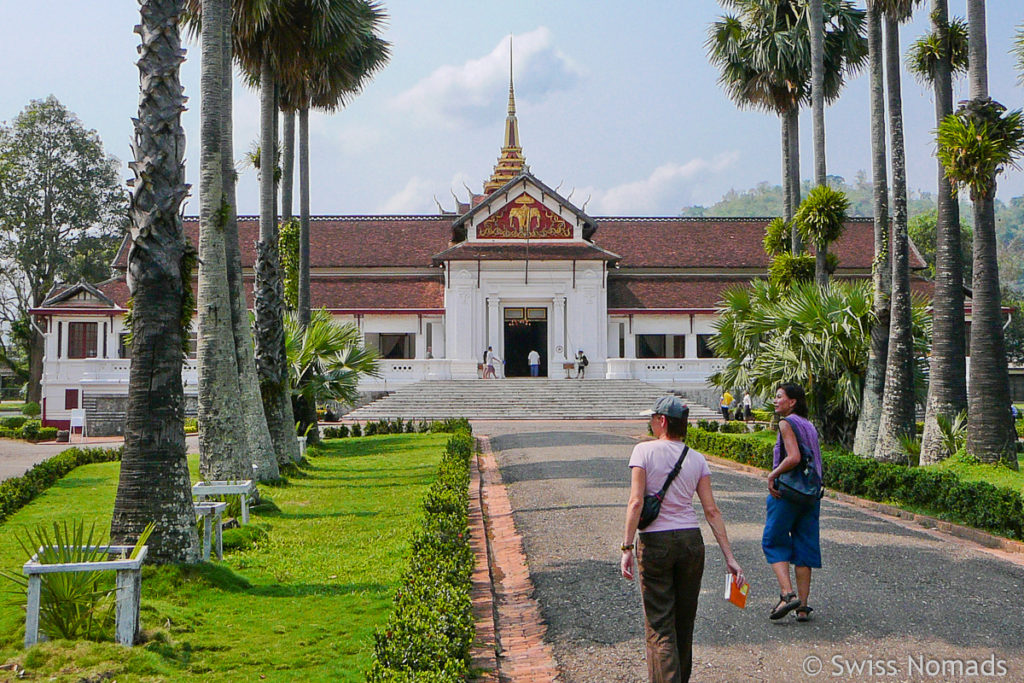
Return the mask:
<path id="1" fill-rule="evenodd" d="M 468 430 L 449 439 L 437 480 L 423 500 L 423 526 L 413 536 L 394 609 L 374 634 L 374 663 L 367 673 L 372 683 L 456 683 L 467 678 L 475 636 L 469 596 L 474 562 L 469 546 L 472 453 Z"/>

